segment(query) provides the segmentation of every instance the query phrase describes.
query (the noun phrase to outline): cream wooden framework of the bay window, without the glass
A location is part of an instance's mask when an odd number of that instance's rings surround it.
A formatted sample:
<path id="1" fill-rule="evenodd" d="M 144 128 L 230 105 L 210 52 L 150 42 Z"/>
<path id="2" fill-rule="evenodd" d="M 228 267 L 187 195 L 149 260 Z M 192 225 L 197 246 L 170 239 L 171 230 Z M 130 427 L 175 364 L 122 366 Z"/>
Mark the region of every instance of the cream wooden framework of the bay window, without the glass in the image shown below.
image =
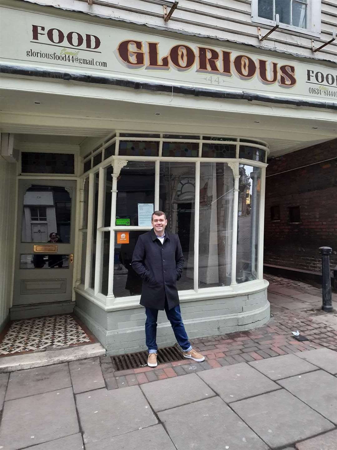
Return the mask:
<path id="1" fill-rule="evenodd" d="M 232 171 L 233 171 L 233 177 L 234 177 L 234 194 L 238 194 L 238 184 L 239 184 L 239 164 L 245 164 L 249 166 L 257 166 L 262 169 L 261 172 L 261 200 L 260 200 L 260 207 L 258 210 L 258 214 L 260 216 L 260 226 L 257 230 L 257 233 L 259 234 L 259 244 L 258 244 L 258 264 L 257 264 L 257 279 L 247 281 L 243 284 L 240 284 L 240 286 L 246 285 L 248 288 L 248 284 L 256 284 L 258 281 L 263 280 L 263 226 L 261 225 L 263 223 L 262 217 L 264 216 L 264 192 L 265 192 L 265 175 L 266 175 L 266 159 L 269 153 L 268 145 L 258 139 L 255 139 L 256 143 L 254 143 L 251 139 L 244 139 L 244 138 L 232 138 L 229 141 L 226 141 L 226 144 L 234 144 L 235 145 L 235 157 L 232 158 L 210 158 L 210 157 L 201 157 L 202 155 L 202 147 L 203 143 L 211 143 L 211 144 L 223 144 L 224 141 L 220 140 L 223 138 L 219 137 L 219 140 L 216 140 L 216 136 L 212 136 L 212 140 L 204 140 L 202 135 L 195 135 L 195 139 L 184 139 L 182 136 L 179 139 L 174 138 L 164 138 L 163 133 L 160 134 L 159 138 L 146 138 L 142 137 L 142 133 L 139 133 L 139 137 L 133 137 L 132 140 L 139 140 L 139 141 L 159 141 L 159 155 L 158 156 L 122 156 L 119 155 L 119 143 L 120 140 L 130 140 L 130 137 L 122 137 L 120 136 L 121 133 L 128 132 L 128 131 L 120 131 L 116 132 L 115 135 L 109 137 L 109 139 L 105 139 L 102 144 L 100 144 L 98 147 L 95 146 L 94 150 L 90 154 L 86 154 L 85 157 L 82 159 L 81 167 L 83 168 L 84 161 L 88 160 L 89 158 L 92 158 L 98 151 L 102 151 L 102 162 L 98 164 L 97 166 L 92 167 L 89 171 L 86 171 L 80 175 L 80 182 L 84 187 L 84 181 L 87 177 L 89 177 L 89 201 L 88 201 L 88 218 L 90 217 L 91 220 L 88 220 L 87 229 L 78 229 L 79 234 L 83 237 L 84 233 L 86 232 L 87 237 L 87 246 L 86 246 L 86 255 L 79 255 L 79 261 L 81 258 L 86 259 L 86 265 L 85 265 L 85 279 L 84 284 L 78 283 L 76 284 L 75 289 L 77 289 L 79 292 L 81 292 L 84 297 L 87 297 L 89 300 L 95 302 L 101 307 L 104 307 L 106 310 L 111 309 L 119 309 L 119 308 L 125 308 L 129 306 L 134 306 L 135 304 L 139 303 L 140 295 L 134 295 L 134 296 L 128 296 L 128 297 L 114 297 L 113 294 L 113 270 L 109 270 L 109 285 L 108 285 L 108 294 L 104 295 L 102 294 L 102 233 L 106 231 L 110 231 L 110 259 L 109 259 L 109 266 L 113 266 L 114 261 L 114 251 L 111 249 L 114 249 L 115 245 L 115 232 L 117 231 L 125 231 L 125 226 L 122 225 L 115 225 L 115 216 L 116 216 L 116 194 L 117 194 L 117 178 L 119 176 L 118 167 L 123 167 L 123 164 L 125 162 L 129 161 L 154 161 L 155 162 L 155 204 L 154 208 L 157 210 L 159 208 L 159 182 L 160 182 L 160 162 L 168 161 L 168 162 L 194 162 L 195 163 L 195 237 L 199 236 L 199 200 L 200 200 L 200 163 L 201 162 L 222 162 L 227 163 Z M 164 142 L 196 142 L 199 144 L 199 155 L 198 157 L 163 157 L 162 155 L 162 149 L 163 149 L 163 143 Z M 104 159 L 104 150 L 106 147 L 110 146 L 111 143 L 115 142 L 115 154 L 111 155 L 107 159 Z M 240 145 L 249 145 L 251 147 L 256 147 L 258 149 L 262 149 L 266 152 L 265 160 L 263 162 L 261 161 L 254 161 L 250 159 L 244 159 L 239 158 L 239 148 Z M 108 166 L 113 166 L 114 171 L 111 174 L 112 176 L 112 196 L 111 196 L 111 225 L 110 226 L 104 226 L 102 223 L 102 217 L 104 214 L 103 211 L 103 204 L 104 204 L 104 193 L 105 193 L 105 168 Z M 82 169 L 83 171 L 83 169 Z M 96 260 L 95 260 L 95 284 L 94 288 L 90 287 L 90 274 L 91 274 L 91 267 L 92 267 L 92 241 L 93 241 L 93 183 L 95 179 L 96 173 L 99 173 L 99 180 L 98 180 L 98 221 L 97 221 L 97 236 L 96 236 Z M 237 190 L 237 192 L 235 192 Z M 84 209 L 84 203 L 83 201 L 80 202 L 80 217 L 81 220 L 83 219 L 83 211 Z M 180 297 L 186 297 L 189 299 L 197 300 L 199 298 L 213 298 L 217 296 L 224 296 L 226 293 L 226 290 L 231 291 L 233 295 L 233 289 L 236 283 L 236 245 L 233 243 L 236 243 L 236 236 L 237 236 L 237 229 L 235 228 L 235 224 L 237 224 L 237 216 L 238 216 L 238 201 L 234 200 L 234 207 L 233 207 L 233 236 L 232 236 L 232 282 L 230 286 L 226 287 L 209 287 L 209 288 L 199 288 L 198 287 L 198 270 L 194 271 L 194 288 L 179 291 Z M 144 227 L 144 226 L 128 226 L 127 229 L 129 231 L 148 231 L 152 227 Z M 199 266 L 199 238 L 195 238 L 195 248 L 194 248 L 194 266 Z M 81 252 L 81 247 L 79 248 L 79 252 Z M 235 269 L 233 269 L 235 268 Z M 80 271 L 80 268 L 79 268 Z M 234 277 L 234 278 L 233 278 Z M 242 288 L 241 288 L 242 289 Z M 227 294 L 228 295 L 228 294 Z M 128 306 L 129 305 L 129 306 Z"/>

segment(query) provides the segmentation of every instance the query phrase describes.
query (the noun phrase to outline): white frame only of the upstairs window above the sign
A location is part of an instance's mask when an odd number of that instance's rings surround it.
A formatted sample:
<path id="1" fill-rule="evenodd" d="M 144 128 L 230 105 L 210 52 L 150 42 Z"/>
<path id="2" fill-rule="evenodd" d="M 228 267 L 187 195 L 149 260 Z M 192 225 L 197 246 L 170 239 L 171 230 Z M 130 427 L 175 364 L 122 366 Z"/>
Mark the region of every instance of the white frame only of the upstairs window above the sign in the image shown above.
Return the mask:
<path id="1" fill-rule="evenodd" d="M 251 3 L 251 19 L 253 23 L 258 25 L 269 25 L 275 27 L 275 20 L 266 19 L 258 15 L 259 0 L 252 0 Z M 274 0 L 275 2 L 275 0 Z M 294 27 L 287 23 L 279 23 L 277 31 L 286 30 L 296 34 L 304 34 L 307 36 L 320 37 L 321 35 L 321 2 L 319 0 L 308 0 L 307 3 L 307 28 Z M 271 39 L 272 36 L 271 36 Z"/>

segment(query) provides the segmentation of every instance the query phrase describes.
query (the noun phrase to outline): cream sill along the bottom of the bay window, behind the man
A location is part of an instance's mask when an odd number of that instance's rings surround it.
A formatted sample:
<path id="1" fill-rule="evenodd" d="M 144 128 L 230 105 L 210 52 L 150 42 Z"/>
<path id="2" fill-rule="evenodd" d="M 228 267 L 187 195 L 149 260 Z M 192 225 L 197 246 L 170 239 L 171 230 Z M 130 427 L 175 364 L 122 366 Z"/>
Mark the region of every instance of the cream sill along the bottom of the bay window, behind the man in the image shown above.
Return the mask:
<path id="1" fill-rule="evenodd" d="M 232 284 L 231 286 L 224 286 L 214 291 L 210 291 L 205 288 L 202 292 L 189 291 L 179 291 L 180 303 L 184 302 L 194 302 L 198 300 L 212 300 L 216 298 L 226 298 L 226 297 L 239 297 L 242 295 L 249 295 L 253 293 L 260 292 L 269 286 L 267 280 L 252 280 L 241 284 Z M 87 298 L 91 302 L 95 303 L 106 312 L 118 311 L 132 308 L 139 308 L 140 295 L 134 295 L 132 297 L 117 297 L 114 299 L 112 305 L 106 306 L 102 303 L 101 297 L 95 297 L 92 293 L 84 291 L 83 285 L 78 285 L 75 288 L 75 292 L 79 293 L 83 297 Z M 103 296 L 102 296 L 103 297 Z"/>

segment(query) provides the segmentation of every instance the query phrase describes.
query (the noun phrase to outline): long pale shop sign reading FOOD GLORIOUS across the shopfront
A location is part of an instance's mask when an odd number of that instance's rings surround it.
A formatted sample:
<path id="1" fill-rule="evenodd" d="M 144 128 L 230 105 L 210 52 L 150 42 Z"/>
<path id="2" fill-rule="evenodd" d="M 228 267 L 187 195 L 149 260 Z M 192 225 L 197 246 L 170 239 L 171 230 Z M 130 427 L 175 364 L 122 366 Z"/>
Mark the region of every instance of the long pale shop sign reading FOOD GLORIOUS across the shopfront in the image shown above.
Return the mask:
<path id="1" fill-rule="evenodd" d="M 244 46 L 230 49 L 5 7 L 0 42 L 3 63 L 294 99 L 337 98 L 335 68 L 255 54 Z"/>

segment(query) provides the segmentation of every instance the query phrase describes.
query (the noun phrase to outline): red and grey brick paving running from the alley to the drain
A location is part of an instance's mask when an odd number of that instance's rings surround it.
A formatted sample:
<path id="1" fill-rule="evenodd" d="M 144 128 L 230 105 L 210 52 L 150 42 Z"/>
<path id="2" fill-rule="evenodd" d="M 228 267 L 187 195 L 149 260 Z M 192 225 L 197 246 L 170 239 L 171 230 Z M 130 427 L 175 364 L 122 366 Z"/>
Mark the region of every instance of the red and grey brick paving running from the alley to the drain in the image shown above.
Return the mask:
<path id="1" fill-rule="evenodd" d="M 328 314 L 321 310 L 321 290 L 310 284 L 272 275 L 266 275 L 265 278 L 270 282 L 268 294 L 273 294 L 270 295 L 272 317 L 268 324 L 251 331 L 191 340 L 193 347 L 205 356 L 203 363 L 182 360 L 160 364 L 155 368 L 145 366 L 114 372 L 111 358 L 103 356 L 101 367 L 107 389 L 134 386 L 321 347 L 337 351 L 337 311 Z M 296 309 L 279 304 L 285 297 L 296 302 Z M 333 306 L 337 309 L 337 294 L 333 294 Z M 329 319 L 331 316 L 335 317 L 335 324 L 324 323 L 327 316 Z M 292 331 L 297 330 L 309 340 L 299 342 L 294 339 Z"/>

